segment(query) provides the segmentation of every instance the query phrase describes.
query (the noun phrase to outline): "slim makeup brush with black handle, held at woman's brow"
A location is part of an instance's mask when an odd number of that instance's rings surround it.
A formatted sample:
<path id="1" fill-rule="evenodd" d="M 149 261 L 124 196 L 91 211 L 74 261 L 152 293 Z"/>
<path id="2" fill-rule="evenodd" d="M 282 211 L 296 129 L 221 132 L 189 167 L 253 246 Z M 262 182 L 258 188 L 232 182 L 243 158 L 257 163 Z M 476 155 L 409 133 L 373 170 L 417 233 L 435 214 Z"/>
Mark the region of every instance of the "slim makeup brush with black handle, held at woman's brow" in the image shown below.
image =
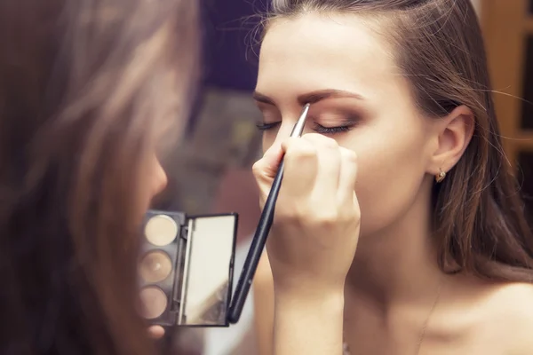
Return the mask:
<path id="1" fill-rule="evenodd" d="M 306 106 L 304 106 L 298 121 L 290 133 L 290 137 L 300 137 L 302 135 L 304 127 L 306 126 L 306 118 L 307 113 L 309 112 L 309 106 L 310 104 L 306 104 Z M 272 221 L 274 219 L 275 201 L 277 201 L 277 196 L 278 193 L 280 193 L 280 187 L 282 185 L 283 166 L 284 164 L 282 158 L 277 173 L 275 174 L 272 188 L 270 189 L 270 193 L 268 193 L 267 202 L 265 202 L 265 207 L 263 208 L 263 212 L 259 218 L 258 227 L 251 241 L 250 250 L 246 256 L 246 261 L 244 262 L 243 272 L 241 272 L 241 277 L 237 283 L 237 288 L 235 288 L 235 294 L 231 299 L 231 304 L 227 313 L 227 320 L 232 324 L 235 324 L 241 318 L 246 297 L 250 292 L 251 281 L 253 280 L 256 270 L 258 269 L 259 258 L 261 257 L 263 249 L 265 248 L 268 233 L 270 233 L 270 227 L 272 226 Z"/>

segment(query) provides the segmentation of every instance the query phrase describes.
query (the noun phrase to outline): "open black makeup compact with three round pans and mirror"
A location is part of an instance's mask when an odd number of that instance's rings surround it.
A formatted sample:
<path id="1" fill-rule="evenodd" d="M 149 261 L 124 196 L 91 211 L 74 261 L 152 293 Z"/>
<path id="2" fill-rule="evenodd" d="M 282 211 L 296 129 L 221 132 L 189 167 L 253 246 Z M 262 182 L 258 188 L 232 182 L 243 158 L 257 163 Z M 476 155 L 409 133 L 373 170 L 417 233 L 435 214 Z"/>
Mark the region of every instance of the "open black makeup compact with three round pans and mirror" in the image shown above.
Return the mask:
<path id="1" fill-rule="evenodd" d="M 149 210 L 139 256 L 141 315 L 161 326 L 227 327 L 238 215 Z"/>

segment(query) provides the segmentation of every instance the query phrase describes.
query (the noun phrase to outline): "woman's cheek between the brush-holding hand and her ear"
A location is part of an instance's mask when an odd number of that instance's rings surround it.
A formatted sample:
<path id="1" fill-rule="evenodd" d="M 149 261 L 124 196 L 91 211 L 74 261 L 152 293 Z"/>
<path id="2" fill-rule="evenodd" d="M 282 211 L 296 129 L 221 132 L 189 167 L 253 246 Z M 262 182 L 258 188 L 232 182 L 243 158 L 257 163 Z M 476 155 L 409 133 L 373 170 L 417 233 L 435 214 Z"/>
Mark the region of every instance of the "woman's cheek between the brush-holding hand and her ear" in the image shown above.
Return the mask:
<path id="1" fill-rule="evenodd" d="M 356 193 L 362 234 L 391 225 L 418 196 L 425 176 L 424 135 L 414 130 L 384 130 L 360 135 Z"/>

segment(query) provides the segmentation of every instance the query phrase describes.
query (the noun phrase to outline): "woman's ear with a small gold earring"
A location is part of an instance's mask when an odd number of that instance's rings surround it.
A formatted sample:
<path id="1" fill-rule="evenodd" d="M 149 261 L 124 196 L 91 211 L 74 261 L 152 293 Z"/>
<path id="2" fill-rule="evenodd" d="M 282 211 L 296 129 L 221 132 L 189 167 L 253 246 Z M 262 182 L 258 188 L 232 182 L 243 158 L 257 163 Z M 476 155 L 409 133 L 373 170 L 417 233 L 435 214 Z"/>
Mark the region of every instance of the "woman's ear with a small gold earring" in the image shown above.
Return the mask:
<path id="1" fill-rule="evenodd" d="M 448 172 L 461 159 L 473 136 L 475 117 L 467 106 L 457 106 L 445 117 L 434 119 L 438 136 L 436 149 L 428 166 L 428 173 Z"/>

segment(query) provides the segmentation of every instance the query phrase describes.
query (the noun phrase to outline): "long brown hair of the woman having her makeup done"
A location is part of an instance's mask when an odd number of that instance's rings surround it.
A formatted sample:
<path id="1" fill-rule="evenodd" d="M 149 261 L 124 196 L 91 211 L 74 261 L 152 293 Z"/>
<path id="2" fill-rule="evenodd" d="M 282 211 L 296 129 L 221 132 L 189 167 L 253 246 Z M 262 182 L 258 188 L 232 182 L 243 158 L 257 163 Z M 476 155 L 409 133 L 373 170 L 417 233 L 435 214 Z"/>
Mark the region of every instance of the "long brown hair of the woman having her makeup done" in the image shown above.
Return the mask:
<path id="1" fill-rule="evenodd" d="M 473 138 L 434 187 L 434 227 L 445 272 L 533 281 L 533 236 L 505 158 L 489 71 L 470 0 L 273 0 L 268 23 L 306 12 L 360 16 L 394 49 L 421 112 L 459 105 L 475 115 Z"/>

